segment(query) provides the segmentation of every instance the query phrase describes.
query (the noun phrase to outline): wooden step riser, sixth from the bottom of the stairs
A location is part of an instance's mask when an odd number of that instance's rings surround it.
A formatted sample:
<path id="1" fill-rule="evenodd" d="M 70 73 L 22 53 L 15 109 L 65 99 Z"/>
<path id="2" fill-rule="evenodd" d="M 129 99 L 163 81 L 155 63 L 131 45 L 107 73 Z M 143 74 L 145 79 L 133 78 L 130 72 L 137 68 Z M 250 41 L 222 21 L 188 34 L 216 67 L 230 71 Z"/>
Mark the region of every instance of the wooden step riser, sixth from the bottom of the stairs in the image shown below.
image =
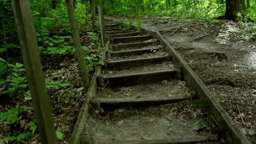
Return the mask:
<path id="1" fill-rule="evenodd" d="M 115 44 L 112 45 L 112 51 L 120 51 L 124 48 L 142 48 L 145 46 L 153 45 L 156 42 L 157 41 Z"/>

